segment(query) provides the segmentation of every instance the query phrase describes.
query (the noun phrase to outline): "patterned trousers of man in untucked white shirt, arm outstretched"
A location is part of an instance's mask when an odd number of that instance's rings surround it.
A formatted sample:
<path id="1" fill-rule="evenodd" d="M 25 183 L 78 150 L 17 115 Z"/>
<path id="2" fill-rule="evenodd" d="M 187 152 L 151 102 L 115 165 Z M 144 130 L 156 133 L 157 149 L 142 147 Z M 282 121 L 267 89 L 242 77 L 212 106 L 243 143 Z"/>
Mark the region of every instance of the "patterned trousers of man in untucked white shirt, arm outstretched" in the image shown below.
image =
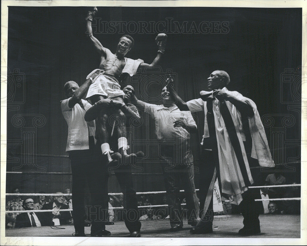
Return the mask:
<path id="1" fill-rule="evenodd" d="M 162 145 L 163 146 L 163 145 Z M 193 157 L 188 150 L 183 157 L 183 161 L 174 164 L 174 152 L 172 147 L 163 146 L 161 154 L 164 158 L 170 158 L 162 164 L 164 182 L 167 195 L 169 221 L 171 227 L 182 225 L 184 214 L 181 208 L 180 188 L 183 188 L 185 193 L 186 204 L 188 208 L 188 222 L 198 219 L 199 205 L 194 184 L 194 165 Z"/>

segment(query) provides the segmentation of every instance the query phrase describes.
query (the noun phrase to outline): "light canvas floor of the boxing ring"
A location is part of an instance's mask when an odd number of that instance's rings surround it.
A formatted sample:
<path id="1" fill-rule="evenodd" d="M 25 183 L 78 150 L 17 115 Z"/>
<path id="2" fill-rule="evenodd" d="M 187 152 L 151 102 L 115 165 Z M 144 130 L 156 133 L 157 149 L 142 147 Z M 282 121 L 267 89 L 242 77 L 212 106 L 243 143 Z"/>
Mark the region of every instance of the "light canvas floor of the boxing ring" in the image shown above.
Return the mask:
<path id="1" fill-rule="evenodd" d="M 215 216 L 213 233 L 191 235 L 187 221 L 184 221 L 184 228 L 179 232 L 169 232 L 169 220 L 142 220 L 142 237 L 242 237 L 237 233 L 243 227 L 243 216 Z M 254 238 L 300 238 L 300 215 L 260 215 L 261 233 Z M 72 236 L 75 232 L 73 225 L 59 226 L 65 229 L 51 229 L 44 226 L 39 228 L 15 228 L 6 229 L 6 236 Z M 106 226 L 112 233 L 110 237 L 127 237 L 129 232 L 123 221 L 115 222 L 114 225 Z M 90 236 L 90 227 L 85 228 L 85 233 Z"/>

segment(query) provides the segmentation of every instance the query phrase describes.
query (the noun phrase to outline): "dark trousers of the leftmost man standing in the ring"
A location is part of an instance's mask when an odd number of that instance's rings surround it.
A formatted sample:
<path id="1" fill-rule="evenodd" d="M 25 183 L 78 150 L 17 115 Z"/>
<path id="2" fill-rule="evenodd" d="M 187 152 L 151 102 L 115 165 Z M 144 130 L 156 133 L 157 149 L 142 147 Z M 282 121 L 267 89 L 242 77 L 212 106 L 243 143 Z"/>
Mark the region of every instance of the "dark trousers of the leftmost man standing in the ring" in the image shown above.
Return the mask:
<path id="1" fill-rule="evenodd" d="M 100 146 L 98 146 L 100 148 Z M 108 212 L 108 175 L 106 167 L 99 161 L 99 152 L 93 150 L 70 151 L 72 167 L 72 217 L 76 232 L 84 233 L 84 194 L 88 183 L 91 206 L 87 207 L 91 220 L 91 234 L 105 229 Z M 101 151 L 100 151 L 101 152 Z M 101 158 L 101 156 L 100 156 Z"/>

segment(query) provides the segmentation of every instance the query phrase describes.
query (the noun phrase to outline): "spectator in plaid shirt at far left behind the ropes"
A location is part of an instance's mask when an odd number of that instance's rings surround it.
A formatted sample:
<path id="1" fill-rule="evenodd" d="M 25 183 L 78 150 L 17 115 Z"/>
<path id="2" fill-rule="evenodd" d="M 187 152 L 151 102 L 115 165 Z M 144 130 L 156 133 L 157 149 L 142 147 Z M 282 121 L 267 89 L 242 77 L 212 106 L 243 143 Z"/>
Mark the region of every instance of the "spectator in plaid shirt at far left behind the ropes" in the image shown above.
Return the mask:
<path id="1" fill-rule="evenodd" d="M 12 193 L 19 194 L 18 188 L 13 188 Z M 20 196 L 14 196 L 14 199 L 7 202 L 6 211 L 18 211 L 23 210 L 22 208 L 23 200 L 20 199 Z M 6 213 L 5 214 L 5 225 L 6 228 L 14 228 L 16 223 L 16 216 L 20 213 Z"/>

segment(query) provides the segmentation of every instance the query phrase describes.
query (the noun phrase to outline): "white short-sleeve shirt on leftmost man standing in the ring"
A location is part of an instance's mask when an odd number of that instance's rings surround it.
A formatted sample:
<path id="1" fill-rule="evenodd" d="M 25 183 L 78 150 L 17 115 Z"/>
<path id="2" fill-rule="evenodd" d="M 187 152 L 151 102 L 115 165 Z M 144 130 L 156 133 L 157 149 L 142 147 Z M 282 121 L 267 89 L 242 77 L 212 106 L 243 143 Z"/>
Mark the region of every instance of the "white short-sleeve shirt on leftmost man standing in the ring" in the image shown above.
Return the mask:
<path id="1" fill-rule="evenodd" d="M 84 109 L 78 103 L 70 108 L 69 99 L 61 101 L 62 114 L 68 124 L 66 151 L 89 149 L 88 137 L 95 136 L 95 122 L 86 122 L 84 115 L 92 105 L 81 99 Z"/>

